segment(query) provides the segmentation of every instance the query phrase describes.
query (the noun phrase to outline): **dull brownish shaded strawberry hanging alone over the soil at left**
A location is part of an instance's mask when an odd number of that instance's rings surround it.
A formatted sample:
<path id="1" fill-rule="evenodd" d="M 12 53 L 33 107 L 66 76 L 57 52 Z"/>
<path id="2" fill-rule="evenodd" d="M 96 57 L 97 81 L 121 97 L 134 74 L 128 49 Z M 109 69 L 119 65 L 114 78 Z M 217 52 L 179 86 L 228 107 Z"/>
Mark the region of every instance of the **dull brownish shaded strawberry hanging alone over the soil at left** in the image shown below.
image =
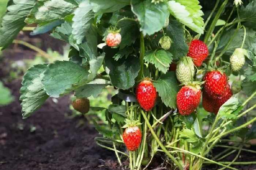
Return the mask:
<path id="1" fill-rule="evenodd" d="M 76 111 L 85 114 L 89 112 L 90 100 L 87 97 L 76 98 L 74 101 L 72 101 L 72 106 Z"/>

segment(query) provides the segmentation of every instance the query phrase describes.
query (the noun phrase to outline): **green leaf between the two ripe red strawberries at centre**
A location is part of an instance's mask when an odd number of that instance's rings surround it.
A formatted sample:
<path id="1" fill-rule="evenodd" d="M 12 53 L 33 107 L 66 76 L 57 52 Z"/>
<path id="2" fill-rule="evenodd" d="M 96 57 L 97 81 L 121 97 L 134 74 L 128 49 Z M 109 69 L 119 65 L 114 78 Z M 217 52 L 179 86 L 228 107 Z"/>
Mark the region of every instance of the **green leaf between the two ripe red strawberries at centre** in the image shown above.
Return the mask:
<path id="1" fill-rule="evenodd" d="M 177 81 L 175 72 L 167 72 L 163 74 L 157 81 L 153 82 L 154 87 L 157 89 L 162 102 L 167 107 L 176 109 L 176 96 L 180 87 Z"/>

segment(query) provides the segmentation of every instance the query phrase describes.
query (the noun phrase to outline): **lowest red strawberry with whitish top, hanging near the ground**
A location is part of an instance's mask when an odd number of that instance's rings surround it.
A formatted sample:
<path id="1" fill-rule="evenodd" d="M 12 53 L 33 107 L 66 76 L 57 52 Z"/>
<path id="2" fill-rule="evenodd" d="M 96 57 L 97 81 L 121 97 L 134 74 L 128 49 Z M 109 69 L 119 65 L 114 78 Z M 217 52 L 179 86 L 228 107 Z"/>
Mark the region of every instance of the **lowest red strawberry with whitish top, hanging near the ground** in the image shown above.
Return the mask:
<path id="1" fill-rule="evenodd" d="M 128 127 L 123 133 L 124 144 L 129 151 L 136 151 L 141 142 L 141 132 L 138 126 Z"/>

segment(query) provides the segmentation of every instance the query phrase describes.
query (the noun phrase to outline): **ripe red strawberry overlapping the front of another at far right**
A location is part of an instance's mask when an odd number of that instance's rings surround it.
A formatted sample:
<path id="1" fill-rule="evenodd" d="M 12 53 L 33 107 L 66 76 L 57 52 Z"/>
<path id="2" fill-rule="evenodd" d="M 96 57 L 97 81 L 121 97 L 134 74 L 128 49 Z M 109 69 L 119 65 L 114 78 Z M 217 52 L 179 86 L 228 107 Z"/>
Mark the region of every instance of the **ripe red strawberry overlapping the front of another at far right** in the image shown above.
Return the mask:
<path id="1" fill-rule="evenodd" d="M 226 90 L 227 76 L 225 73 L 215 70 L 204 75 L 204 89 L 210 98 L 221 97 Z"/>

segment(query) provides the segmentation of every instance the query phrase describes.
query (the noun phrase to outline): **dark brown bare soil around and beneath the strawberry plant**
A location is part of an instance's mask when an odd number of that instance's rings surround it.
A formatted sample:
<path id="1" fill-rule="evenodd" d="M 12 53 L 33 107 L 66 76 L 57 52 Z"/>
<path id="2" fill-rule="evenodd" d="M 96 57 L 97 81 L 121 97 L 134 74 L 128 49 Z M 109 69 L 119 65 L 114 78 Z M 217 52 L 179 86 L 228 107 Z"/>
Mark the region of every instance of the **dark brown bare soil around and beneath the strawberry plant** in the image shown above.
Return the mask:
<path id="1" fill-rule="evenodd" d="M 8 76 L 9 66 L 6 62 L 33 58 L 34 55 L 29 51 L 26 54 L 22 51 L 15 54 L 5 53 L 4 62 L 0 61 L 0 79 Z M 100 135 L 86 119 L 70 119 L 66 116 L 65 113 L 71 114 L 69 96 L 58 98 L 58 103 L 48 98 L 41 109 L 29 118 L 22 119 L 19 101 L 21 79 L 4 82 L 11 89 L 14 101 L 8 106 L 0 107 L 0 170 L 118 169 L 114 152 L 95 143 L 94 138 Z M 85 123 L 77 127 L 80 120 Z M 250 149 L 256 150 L 255 147 Z M 223 148 L 215 148 L 213 152 L 217 154 L 222 150 Z M 224 161 L 232 161 L 235 156 L 236 153 Z M 242 151 L 237 161 L 255 159 L 255 154 Z M 256 165 L 235 167 L 239 170 L 256 169 Z M 203 170 L 219 168 L 221 167 L 210 165 Z"/>

